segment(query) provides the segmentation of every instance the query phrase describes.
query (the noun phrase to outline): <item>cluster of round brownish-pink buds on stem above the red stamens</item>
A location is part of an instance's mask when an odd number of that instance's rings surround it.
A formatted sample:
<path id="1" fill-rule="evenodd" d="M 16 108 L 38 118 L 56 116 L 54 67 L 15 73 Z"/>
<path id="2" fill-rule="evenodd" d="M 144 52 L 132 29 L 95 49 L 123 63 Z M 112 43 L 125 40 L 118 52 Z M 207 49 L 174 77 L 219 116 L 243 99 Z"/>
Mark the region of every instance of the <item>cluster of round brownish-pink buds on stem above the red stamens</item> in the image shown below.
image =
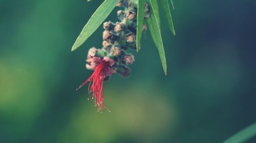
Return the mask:
<path id="1" fill-rule="evenodd" d="M 111 74 L 105 75 L 105 79 L 109 79 L 114 73 L 128 77 L 131 70 L 127 66 L 135 61 L 134 55 L 127 50 L 129 48 L 136 49 L 137 4 L 133 0 L 120 0 L 116 6 L 123 9 L 117 11 L 119 21 L 103 23 L 102 48 L 92 47 L 87 56 L 86 68 L 89 70 L 95 70 L 99 64 L 99 59 L 108 57 L 115 61 L 115 64 L 111 66 L 111 71 L 109 71 Z M 145 19 L 150 16 L 147 4 L 145 4 L 144 15 Z M 146 30 L 146 24 L 143 24 L 142 32 Z"/>

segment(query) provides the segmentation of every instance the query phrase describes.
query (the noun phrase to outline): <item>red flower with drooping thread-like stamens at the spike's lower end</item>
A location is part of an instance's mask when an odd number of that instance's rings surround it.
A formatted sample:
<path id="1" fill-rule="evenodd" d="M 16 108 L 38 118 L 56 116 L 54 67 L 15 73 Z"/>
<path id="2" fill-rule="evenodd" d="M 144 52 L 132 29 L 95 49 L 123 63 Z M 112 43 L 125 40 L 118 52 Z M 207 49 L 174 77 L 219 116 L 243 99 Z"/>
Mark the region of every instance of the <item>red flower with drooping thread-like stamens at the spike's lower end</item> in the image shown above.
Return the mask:
<path id="1" fill-rule="evenodd" d="M 95 66 L 95 70 L 91 77 L 89 77 L 85 82 L 83 82 L 78 89 L 80 89 L 81 87 L 83 87 L 84 84 L 90 81 L 88 87 L 88 100 L 90 92 L 92 92 L 95 105 L 98 105 L 98 111 L 102 111 L 102 107 L 109 110 L 109 108 L 107 108 L 103 102 L 103 99 L 105 98 L 104 94 L 102 95 L 103 81 L 105 76 L 110 76 L 113 73 L 111 67 L 115 64 L 115 61 L 105 56 L 103 60 L 94 57 L 90 62 L 93 63 L 92 66 Z"/>

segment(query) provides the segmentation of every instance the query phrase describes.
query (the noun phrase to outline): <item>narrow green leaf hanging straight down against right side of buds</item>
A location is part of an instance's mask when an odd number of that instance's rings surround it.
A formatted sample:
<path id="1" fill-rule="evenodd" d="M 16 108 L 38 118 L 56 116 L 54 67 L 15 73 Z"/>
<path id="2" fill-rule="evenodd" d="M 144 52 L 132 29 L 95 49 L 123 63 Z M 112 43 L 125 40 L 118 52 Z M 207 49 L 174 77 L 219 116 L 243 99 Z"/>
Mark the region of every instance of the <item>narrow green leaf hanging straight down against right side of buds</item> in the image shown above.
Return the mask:
<path id="1" fill-rule="evenodd" d="M 137 36 L 136 36 L 136 49 L 139 51 L 140 39 L 142 35 L 142 27 L 144 23 L 144 5 L 145 0 L 138 1 L 138 10 L 137 10 Z"/>

